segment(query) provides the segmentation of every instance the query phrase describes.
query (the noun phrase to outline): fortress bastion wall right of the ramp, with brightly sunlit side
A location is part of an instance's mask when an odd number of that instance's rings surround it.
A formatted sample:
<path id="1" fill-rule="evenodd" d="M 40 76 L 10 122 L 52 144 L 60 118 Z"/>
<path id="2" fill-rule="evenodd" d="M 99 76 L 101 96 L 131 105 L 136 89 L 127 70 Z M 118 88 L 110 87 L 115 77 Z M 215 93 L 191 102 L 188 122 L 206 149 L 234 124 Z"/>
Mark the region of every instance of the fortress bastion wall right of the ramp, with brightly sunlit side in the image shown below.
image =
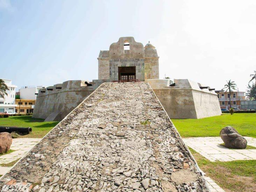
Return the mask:
<path id="1" fill-rule="evenodd" d="M 169 79 L 148 79 L 156 96 L 171 119 L 200 119 L 221 115 L 217 94 L 200 89 L 202 84 L 188 79 L 175 79 L 176 86 L 168 86 Z"/>

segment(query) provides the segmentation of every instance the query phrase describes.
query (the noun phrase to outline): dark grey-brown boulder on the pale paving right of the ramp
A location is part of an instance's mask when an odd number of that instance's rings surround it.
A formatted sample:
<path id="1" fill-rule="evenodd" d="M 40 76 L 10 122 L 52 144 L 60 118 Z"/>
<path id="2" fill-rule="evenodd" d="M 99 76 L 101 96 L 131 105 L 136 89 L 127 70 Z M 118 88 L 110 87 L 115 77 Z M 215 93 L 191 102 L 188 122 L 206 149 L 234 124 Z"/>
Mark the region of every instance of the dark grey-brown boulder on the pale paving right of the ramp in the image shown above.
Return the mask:
<path id="1" fill-rule="evenodd" d="M 246 139 L 241 136 L 233 127 L 225 127 L 220 131 L 220 137 L 225 143 L 225 147 L 233 149 L 245 149 Z"/>

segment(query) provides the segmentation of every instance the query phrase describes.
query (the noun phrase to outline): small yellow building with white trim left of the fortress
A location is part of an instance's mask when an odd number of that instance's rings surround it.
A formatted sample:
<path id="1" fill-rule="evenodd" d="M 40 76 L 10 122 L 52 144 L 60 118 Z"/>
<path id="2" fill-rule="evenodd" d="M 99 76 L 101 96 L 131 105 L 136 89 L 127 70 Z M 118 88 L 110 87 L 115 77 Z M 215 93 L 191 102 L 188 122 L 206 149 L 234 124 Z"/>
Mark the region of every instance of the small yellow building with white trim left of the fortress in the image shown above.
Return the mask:
<path id="1" fill-rule="evenodd" d="M 33 99 L 15 99 L 17 105 L 15 112 L 18 114 L 33 113 L 36 100 Z"/>

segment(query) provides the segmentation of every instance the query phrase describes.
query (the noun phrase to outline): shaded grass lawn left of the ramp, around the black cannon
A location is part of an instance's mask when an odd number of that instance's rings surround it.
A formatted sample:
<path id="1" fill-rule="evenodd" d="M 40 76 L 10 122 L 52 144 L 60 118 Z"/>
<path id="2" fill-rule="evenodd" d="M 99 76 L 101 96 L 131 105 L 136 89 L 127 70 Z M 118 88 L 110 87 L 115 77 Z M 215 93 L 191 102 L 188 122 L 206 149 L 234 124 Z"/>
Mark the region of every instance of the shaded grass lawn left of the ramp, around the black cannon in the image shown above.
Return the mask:
<path id="1" fill-rule="evenodd" d="M 44 122 L 43 119 L 32 118 L 32 116 L 10 116 L 9 118 L 0 118 L 0 126 L 10 127 L 31 127 L 32 132 L 20 137 L 41 138 L 46 135 L 58 122 Z"/>

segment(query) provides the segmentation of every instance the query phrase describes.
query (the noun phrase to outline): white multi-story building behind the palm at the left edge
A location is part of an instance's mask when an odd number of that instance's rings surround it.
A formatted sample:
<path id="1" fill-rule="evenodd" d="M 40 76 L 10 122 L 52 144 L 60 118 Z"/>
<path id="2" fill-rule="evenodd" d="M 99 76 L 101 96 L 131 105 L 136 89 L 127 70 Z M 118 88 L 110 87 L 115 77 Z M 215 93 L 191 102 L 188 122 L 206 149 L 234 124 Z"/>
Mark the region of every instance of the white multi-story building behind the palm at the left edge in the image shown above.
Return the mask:
<path id="1" fill-rule="evenodd" d="M 0 95 L 0 112 L 6 112 L 6 111 L 15 112 L 15 107 L 17 107 L 17 105 L 15 105 L 15 91 L 17 86 L 12 85 L 12 80 L 10 79 L 2 79 L 2 80 L 5 81 L 5 84 L 7 85 L 9 90 L 6 90 L 7 95 L 4 95 L 4 97 Z"/>

